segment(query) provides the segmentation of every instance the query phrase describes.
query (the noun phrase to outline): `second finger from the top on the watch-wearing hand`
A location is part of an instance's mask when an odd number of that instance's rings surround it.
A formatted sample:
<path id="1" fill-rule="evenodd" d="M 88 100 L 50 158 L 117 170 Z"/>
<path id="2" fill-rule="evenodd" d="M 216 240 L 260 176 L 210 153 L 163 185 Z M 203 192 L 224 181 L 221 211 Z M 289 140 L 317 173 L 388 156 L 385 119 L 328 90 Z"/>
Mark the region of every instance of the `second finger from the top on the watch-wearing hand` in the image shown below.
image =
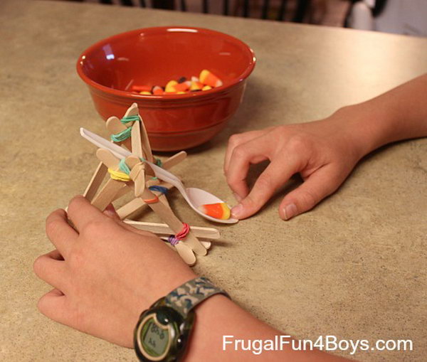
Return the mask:
<path id="1" fill-rule="evenodd" d="M 78 233 L 68 223 L 67 213 L 62 209 L 53 211 L 46 218 L 46 235 L 64 257 L 78 238 Z"/>

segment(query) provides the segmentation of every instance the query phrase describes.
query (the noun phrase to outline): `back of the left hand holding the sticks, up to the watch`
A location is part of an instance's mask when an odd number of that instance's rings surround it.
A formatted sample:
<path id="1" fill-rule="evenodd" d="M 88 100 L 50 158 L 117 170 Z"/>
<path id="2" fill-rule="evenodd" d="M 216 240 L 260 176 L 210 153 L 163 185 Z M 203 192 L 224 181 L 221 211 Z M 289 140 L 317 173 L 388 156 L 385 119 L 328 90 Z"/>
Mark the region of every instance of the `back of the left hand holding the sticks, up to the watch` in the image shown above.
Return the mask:
<path id="1" fill-rule="evenodd" d="M 111 213 L 78 196 L 68 206 L 77 231 L 65 211 L 48 216 L 46 232 L 56 250 L 38 257 L 34 271 L 55 289 L 41 297 L 38 309 L 62 324 L 132 347 L 139 314 L 195 275 L 157 236 L 108 217 Z"/>

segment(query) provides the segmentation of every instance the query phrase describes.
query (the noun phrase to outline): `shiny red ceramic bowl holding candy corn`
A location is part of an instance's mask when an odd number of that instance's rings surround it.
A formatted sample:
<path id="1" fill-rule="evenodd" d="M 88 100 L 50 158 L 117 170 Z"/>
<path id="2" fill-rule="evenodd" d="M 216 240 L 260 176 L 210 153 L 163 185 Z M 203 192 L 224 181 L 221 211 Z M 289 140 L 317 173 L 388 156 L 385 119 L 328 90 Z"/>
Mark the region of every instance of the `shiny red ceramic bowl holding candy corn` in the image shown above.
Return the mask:
<path id="1" fill-rule="evenodd" d="M 103 119 L 122 117 L 137 102 L 152 149 L 176 151 L 202 144 L 226 126 L 241 103 L 255 66 L 251 48 L 204 28 L 163 26 L 128 31 L 95 43 L 78 58 Z M 132 85 L 166 85 L 211 70 L 221 87 L 184 95 L 139 95 Z"/>

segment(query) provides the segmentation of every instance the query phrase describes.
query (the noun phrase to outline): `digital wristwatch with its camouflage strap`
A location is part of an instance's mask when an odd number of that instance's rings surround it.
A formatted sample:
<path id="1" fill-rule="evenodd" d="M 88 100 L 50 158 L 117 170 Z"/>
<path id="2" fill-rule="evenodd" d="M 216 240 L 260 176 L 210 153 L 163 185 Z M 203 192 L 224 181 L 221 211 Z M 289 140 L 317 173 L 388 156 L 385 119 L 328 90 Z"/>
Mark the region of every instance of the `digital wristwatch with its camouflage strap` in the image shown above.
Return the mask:
<path id="1" fill-rule="evenodd" d="M 142 312 L 134 332 L 134 346 L 139 361 L 179 361 L 194 324 L 194 307 L 218 293 L 228 297 L 208 278 L 197 277 L 177 287 Z"/>

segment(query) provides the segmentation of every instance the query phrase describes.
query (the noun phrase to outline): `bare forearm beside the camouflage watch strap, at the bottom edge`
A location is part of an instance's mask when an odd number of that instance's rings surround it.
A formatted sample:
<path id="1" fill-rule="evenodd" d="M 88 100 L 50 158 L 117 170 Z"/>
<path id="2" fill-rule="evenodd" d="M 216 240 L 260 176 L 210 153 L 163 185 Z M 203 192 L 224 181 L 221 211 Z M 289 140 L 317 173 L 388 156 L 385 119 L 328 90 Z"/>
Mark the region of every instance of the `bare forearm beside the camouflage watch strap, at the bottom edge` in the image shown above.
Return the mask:
<path id="1" fill-rule="evenodd" d="M 283 351 L 263 351 L 260 354 L 242 351 L 241 344 L 236 351 L 234 346 L 236 339 L 243 339 L 247 346 L 248 340 L 274 340 L 281 334 L 230 299 L 218 295 L 196 308 L 196 322 L 185 361 L 346 361 L 318 350 L 292 351 L 289 344 L 283 346 Z M 223 336 L 230 336 L 226 341 L 233 344 L 224 346 Z"/>

